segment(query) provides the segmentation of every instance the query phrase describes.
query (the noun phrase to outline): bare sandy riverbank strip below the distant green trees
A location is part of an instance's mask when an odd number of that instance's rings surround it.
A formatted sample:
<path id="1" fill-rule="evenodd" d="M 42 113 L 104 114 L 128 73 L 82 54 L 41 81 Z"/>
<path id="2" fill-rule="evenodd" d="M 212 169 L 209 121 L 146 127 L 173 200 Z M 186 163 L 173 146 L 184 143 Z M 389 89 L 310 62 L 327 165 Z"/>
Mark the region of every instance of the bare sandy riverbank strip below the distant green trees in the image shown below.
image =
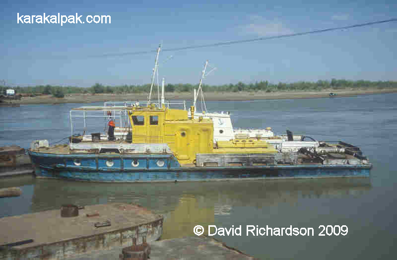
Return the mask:
<path id="1" fill-rule="evenodd" d="M 334 90 L 327 89 L 323 91 L 286 91 L 286 92 L 207 92 L 204 93 L 205 100 L 213 101 L 230 101 L 230 100 L 258 100 L 258 99 L 297 99 L 297 98 L 328 98 L 330 92 L 337 94 L 337 97 L 348 97 L 356 95 L 368 95 L 379 93 L 397 93 L 397 88 L 390 89 L 343 89 Z M 190 100 L 192 94 L 189 92 L 182 93 L 166 93 L 167 100 Z M 153 99 L 154 98 L 154 99 Z M 153 101 L 157 100 L 157 94 L 152 98 Z M 62 103 L 94 103 L 104 101 L 123 101 L 123 100 L 147 100 L 146 93 L 140 94 L 71 94 L 66 95 L 65 98 L 55 98 L 51 95 L 42 95 L 36 97 L 23 97 L 20 100 L 13 100 L 14 104 L 62 104 Z"/>

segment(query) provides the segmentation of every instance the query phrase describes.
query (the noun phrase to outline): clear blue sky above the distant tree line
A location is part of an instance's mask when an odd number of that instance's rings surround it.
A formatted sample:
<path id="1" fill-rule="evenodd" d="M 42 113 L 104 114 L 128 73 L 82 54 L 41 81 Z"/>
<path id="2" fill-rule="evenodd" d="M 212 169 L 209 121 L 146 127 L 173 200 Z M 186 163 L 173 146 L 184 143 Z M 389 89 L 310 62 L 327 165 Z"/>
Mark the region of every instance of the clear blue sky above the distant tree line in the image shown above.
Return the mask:
<path id="1" fill-rule="evenodd" d="M 110 3 L 111 2 L 111 3 Z M 18 1 L 0 3 L 0 80 L 9 86 L 89 87 L 151 81 L 155 51 L 255 39 L 397 18 L 397 2 Z M 18 23 L 24 15 L 82 15 L 82 23 Z M 88 23 L 110 15 L 110 23 Z M 35 18 L 36 19 L 36 18 Z M 90 18 L 88 18 L 90 20 Z M 23 19 L 22 19 L 23 20 Z M 50 18 L 49 18 L 50 20 Z M 123 53 L 145 52 L 139 55 Z M 209 85 L 331 80 L 397 80 L 397 21 L 320 34 L 183 51 L 159 57 L 166 83 Z M 171 58 L 170 58 L 171 57 Z"/>

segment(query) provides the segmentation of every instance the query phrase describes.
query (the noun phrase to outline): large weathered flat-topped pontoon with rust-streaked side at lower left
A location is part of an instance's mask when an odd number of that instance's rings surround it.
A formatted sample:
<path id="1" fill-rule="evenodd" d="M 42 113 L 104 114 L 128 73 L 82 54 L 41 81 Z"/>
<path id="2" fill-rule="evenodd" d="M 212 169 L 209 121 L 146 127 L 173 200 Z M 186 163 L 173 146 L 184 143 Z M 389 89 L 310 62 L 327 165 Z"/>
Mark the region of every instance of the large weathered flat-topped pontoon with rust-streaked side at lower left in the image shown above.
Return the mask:
<path id="1" fill-rule="evenodd" d="M 137 244 L 144 236 L 147 242 L 159 239 L 162 228 L 162 216 L 126 203 L 85 206 L 75 217 L 62 217 L 60 209 L 5 217 L 0 218 L 0 245 L 33 241 L 1 247 L 0 260 L 55 260 L 128 247 L 132 238 Z"/>

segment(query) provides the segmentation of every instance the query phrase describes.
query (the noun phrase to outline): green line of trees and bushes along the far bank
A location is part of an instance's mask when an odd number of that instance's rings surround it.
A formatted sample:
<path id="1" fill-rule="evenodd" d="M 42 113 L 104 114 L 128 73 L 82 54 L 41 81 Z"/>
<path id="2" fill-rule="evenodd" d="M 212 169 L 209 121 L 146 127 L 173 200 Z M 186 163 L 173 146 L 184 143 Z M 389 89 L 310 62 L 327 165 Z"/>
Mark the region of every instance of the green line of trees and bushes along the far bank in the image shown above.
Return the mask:
<path id="1" fill-rule="evenodd" d="M 166 92 L 191 92 L 192 88 L 198 87 L 198 84 L 167 84 L 165 85 Z M 204 92 L 279 92 L 279 91 L 321 91 L 324 89 L 345 89 L 345 88 L 396 88 L 397 81 L 368 81 L 368 80 L 345 80 L 345 79 L 332 79 L 319 80 L 317 82 L 300 81 L 294 83 L 278 83 L 273 84 L 266 81 L 245 84 L 238 82 L 237 84 L 224 84 L 218 86 L 202 85 Z M 4 93 L 9 87 L 0 86 L 1 93 Z M 122 86 L 105 86 L 99 83 L 91 87 L 75 87 L 75 86 L 52 86 L 52 85 L 39 85 L 29 87 L 12 87 L 15 94 L 27 95 L 53 95 L 55 97 L 63 98 L 67 94 L 73 93 L 147 93 L 150 90 L 150 84 L 144 85 L 122 85 Z"/>

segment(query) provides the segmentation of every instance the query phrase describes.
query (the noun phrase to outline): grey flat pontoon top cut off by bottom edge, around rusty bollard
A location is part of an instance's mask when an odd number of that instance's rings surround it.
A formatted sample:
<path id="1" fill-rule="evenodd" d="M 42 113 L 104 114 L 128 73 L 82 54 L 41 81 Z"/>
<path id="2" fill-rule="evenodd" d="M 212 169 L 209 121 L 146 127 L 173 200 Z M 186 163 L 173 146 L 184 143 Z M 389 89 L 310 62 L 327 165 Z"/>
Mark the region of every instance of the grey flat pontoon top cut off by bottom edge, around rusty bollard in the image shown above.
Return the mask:
<path id="1" fill-rule="evenodd" d="M 254 260 L 245 253 L 206 236 L 167 239 L 149 243 L 150 260 Z M 122 247 L 84 254 L 70 260 L 119 259 Z"/>

